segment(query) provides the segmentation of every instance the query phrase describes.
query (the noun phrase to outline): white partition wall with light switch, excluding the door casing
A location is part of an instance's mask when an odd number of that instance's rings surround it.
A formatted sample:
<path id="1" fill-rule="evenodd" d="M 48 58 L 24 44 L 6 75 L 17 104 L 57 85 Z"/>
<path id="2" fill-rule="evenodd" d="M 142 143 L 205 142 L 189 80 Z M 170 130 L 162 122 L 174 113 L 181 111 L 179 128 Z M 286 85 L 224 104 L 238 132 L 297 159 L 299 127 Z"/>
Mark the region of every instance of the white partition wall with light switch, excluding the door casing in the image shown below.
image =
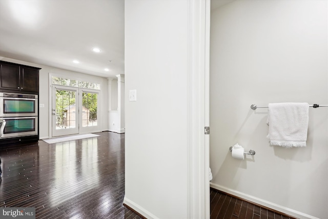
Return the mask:
<path id="1" fill-rule="evenodd" d="M 125 203 L 187 218 L 188 1 L 125 2 Z M 133 206 L 131 206 L 131 204 Z"/>

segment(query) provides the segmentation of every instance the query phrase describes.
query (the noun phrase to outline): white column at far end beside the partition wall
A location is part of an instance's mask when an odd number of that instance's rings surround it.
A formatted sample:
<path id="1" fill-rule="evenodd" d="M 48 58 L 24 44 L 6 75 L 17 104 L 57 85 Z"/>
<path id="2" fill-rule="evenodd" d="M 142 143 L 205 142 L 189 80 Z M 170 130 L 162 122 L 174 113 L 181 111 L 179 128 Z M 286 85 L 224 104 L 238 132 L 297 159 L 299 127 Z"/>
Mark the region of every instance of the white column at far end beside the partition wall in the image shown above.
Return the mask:
<path id="1" fill-rule="evenodd" d="M 125 107 L 124 107 L 124 74 L 118 74 L 117 86 L 118 86 L 118 133 L 125 133 Z"/>

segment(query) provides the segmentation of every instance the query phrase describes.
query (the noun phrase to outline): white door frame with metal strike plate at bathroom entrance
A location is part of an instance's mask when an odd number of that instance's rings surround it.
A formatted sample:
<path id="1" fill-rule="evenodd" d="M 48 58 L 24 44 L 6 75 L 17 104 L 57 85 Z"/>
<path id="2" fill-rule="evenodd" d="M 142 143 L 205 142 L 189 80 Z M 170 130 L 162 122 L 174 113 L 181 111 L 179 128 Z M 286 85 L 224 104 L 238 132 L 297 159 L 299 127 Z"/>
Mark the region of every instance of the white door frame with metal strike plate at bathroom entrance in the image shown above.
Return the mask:
<path id="1" fill-rule="evenodd" d="M 210 218 L 210 0 L 189 1 L 188 218 Z"/>

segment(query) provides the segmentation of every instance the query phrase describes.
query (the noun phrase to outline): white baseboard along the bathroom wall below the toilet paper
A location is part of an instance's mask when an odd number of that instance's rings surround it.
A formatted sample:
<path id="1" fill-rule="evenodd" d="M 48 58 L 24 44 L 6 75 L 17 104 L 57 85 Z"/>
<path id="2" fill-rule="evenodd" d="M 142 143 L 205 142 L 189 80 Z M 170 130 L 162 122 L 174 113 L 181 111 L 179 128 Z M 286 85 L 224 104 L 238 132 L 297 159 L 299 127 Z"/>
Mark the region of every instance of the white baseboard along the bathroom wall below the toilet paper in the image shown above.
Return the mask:
<path id="1" fill-rule="evenodd" d="M 227 187 L 224 187 L 224 186 L 220 186 L 218 184 L 214 184 L 212 182 L 210 183 L 210 187 L 212 187 L 214 189 L 217 189 L 217 190 L 220 190 L 222 192 L 227 192 L 229 194 L 232 194 L 232 195 L 235 195 L 237 197 L 243 198 L 244 200 L 254 202 L 258 205 L 262 205 L 264 207 L 271 208 L 271 209 L 274 209 L 276 211 L 280 211 L 282 213 L 298 217 L 300 219 L 320 219 L 318 217 L 314 217 L 314 216 L 311 216 L 309 214 L 305 214 L 305 213 L 302 213 L 302 212 L 299 212 L 299 211 L 295 211 L 293 209 L 286 208 L 284 206 L 277 205 L 275 203 L 262 200 L 261 198 L 258 198 L 258 197 L 255 197 L 255 196 L 252 196 L 252 195 L 249 195 L 249 194 L 245 194 L 245 193 L 242 193 L 242 192 L 239 192 L 237 190 L 233 190 L 233 189 L 230 189 L 230 188 L 227 188 Z"/>

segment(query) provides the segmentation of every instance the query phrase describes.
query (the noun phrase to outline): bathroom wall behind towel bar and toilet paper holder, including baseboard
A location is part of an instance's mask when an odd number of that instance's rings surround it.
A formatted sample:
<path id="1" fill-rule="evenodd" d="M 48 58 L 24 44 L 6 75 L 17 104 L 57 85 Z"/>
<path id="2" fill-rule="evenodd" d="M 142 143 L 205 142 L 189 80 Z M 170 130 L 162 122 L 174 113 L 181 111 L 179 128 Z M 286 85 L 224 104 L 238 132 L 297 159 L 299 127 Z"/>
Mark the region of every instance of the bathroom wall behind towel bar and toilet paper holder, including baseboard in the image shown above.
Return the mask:
<path id="1" fill-rule="evenodd" d="M 328 104 L 327 1 L 234 1 L 211 11 L 212 187 L 300 218 L 328 218 L 328 108 L 310 108 L 307 146 L 270 146 L 268 109 Z M 239 143 L 256 151 L 231 157 Z"/>

